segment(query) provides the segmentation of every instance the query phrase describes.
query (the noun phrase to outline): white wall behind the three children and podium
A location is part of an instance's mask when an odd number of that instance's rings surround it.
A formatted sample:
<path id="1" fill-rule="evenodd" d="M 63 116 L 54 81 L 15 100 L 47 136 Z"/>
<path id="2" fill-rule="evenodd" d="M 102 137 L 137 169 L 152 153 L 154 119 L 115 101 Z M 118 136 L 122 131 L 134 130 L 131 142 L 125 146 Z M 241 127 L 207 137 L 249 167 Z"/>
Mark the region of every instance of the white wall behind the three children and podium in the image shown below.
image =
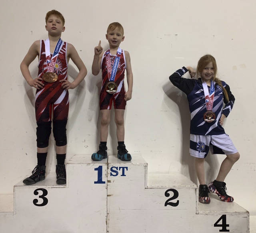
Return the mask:
<path id="1" fill-rule="evenodd" d="M 62 39 L 72 43 L 88 68 L 79 87 L 70 90 L 67 159 L 92 154 L 99 143 L 98 91 L 101 77 L 91 74 L 94 47 L 104 49 L 109 23 L 124 26 L 121 47 L 131 55 L 134 73 L 132 100 L 125 115 L 126 146 L 140 153 L 151 172 L 179 171 L 196 182 L 189 156 L 189 111 L 186 97 L 168 80 L 183 65 L 196 67 L 198 59 L 211 53 L 218 73 L 236 97 L 224 124 L 241 158 L 226 178 L 229 194 L 256 215 L 255 144 L 255 24 L 254 0 L 240 1 L 7 1 L 0 8 L 0 193 L 12 187 L 36 165 L 34 93 L 21 75 L 19 65 L 30 45 L 46 39 L 44 17 L 48 10 L 62 12 L 66 31 Z M 118 4 L 118 5 L 117 5 Z M 30 65 L 37 75 L 37 60 Z M 78 71 L 72 61 L 69 79 Z M 253 106 L 253 107 L 252 107 Z M 55 169 L 51 136 L 47 171 Z M 109 153 L 116 153 L 115 125 L 110 124 Z M 206 159 L 207 182 L 216 176 L 224 156 Z"/>

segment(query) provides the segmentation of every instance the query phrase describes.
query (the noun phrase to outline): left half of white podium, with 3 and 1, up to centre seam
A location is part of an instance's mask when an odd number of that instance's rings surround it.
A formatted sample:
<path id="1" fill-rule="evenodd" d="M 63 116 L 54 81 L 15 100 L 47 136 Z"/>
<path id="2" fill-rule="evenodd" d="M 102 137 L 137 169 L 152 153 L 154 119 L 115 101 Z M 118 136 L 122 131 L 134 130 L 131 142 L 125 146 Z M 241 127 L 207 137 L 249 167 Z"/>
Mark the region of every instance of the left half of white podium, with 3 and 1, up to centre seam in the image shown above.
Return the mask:
<path id="1" fill-rule="evenodd" d="M 107 182 L 97 183 L 106 181 L 106 161 L 75 155 L 66 171 L 67 185 L 57 185 L 56 174 L 46 174 L 34 185 L 14 186 L 14 211 L 11 217 L 0 215 L 0 232 L 106 233 Z"/>

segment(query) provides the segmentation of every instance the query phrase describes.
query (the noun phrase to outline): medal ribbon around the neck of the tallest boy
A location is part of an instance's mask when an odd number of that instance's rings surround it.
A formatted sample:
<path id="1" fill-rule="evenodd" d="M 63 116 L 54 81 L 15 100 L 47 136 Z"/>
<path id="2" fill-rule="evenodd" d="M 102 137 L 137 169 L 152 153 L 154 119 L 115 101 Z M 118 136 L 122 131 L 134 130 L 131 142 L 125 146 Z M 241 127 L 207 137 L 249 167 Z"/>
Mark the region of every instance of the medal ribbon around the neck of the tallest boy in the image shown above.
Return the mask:
<path id="1" fill-rule="evenodd" d="M 58 40 L 56 47 L 54 49 L 54 53 L 52 55 L 52 59 L 51 59 L 50 40 L 46 39 L 44 44 L 45 44 L 45 55 L 46 55 L 46 64 L 47 64 L 48 72 L 54 71 L 55 63 L 57 61 L 57 57 L 58 57 L 60 49 L 62 48 L 63 43 L 64 42 L 62 41 L 62 39 Z"/>

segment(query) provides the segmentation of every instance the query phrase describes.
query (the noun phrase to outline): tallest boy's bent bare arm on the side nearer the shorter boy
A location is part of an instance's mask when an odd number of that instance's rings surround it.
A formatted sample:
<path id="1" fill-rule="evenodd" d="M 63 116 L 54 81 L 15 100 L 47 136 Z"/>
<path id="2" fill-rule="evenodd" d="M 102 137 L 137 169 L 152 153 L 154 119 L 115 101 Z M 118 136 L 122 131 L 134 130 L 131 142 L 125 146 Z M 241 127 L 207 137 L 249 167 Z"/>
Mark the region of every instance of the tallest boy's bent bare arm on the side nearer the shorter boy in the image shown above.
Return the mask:
<path id="1" fill-rule="evenodd" d="M 74 64 L 79 70 L 79 73 L 72 83 L 70 83 L 67 79 L 60 80 L 60 82 L 62 83 L 61 86 L 65 90 L 74 89 L 75 87 L 77 87 L 78 84 L 81 83 L 81 81 L 84 79 L 84 77 L 87 74 L 87 69 L 82 59 L 79 57 L 75 47 L 72 44 L 68 43 L 67 51 L 68 51 L 68 58 L 71 58 L 71 60 L 74 62 Z"/>

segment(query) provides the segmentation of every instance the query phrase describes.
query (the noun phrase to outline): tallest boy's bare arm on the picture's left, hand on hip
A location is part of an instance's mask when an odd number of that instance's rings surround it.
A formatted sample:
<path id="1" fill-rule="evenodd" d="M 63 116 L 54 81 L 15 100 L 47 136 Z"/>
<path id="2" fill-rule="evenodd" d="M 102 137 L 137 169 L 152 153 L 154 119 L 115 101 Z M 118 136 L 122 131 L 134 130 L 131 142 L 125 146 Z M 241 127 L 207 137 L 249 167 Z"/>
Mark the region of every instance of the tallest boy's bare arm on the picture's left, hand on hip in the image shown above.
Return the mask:
<path id="1" fill-rule="evenodd" d="M 23 75 L 23 77 L 26 79 L 28 84 L 31 87 L 35 87 L 36 89 L 41 89 L 44 84 L 41 82 L 42 78 L 35 78 L 33 79 L 30 75 L 30 71 L 28 69 L 30 63 L 34 61 L 36 56 L 38 56 L 40 53 L 40 41 L 35 41 L 29 48 L 28 53 L 25 55 L 24 59 L 20 63 L 20 70 Z"/>

